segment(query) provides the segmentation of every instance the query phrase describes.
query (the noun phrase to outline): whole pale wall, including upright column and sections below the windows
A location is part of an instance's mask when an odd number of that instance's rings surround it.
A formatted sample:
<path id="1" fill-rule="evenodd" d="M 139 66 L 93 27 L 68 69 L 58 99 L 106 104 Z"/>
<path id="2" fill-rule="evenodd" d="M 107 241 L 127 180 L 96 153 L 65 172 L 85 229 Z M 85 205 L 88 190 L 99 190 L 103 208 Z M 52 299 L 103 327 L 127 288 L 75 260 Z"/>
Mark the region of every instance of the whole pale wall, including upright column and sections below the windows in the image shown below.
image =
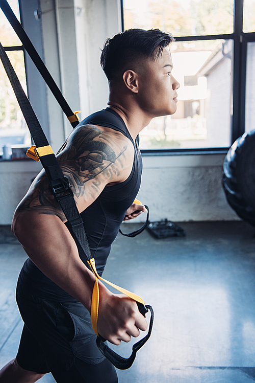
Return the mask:
<path id="1" fill-rule="evenodd" d="M 42 54 L 70 106 L 73 110 L 82 108 L 81 118 L 106 107 L 108 85 L 99 56 L 105 39 L 120 31 L 119 1 L 39 3 Z M 33 83 L 37 86 L 36 81 Z M 50 91 L 46 92 L 49 139 L 56 151 L 71 128 Z M 220 154 L 144 156 L 138 198 L 150 207 L 150 219 L 239 219 L 221 188 L 223 159 Z M 40 169 L 34 161 L 0 162 L 0 224 L 11 223 L 15 207 Z"/>

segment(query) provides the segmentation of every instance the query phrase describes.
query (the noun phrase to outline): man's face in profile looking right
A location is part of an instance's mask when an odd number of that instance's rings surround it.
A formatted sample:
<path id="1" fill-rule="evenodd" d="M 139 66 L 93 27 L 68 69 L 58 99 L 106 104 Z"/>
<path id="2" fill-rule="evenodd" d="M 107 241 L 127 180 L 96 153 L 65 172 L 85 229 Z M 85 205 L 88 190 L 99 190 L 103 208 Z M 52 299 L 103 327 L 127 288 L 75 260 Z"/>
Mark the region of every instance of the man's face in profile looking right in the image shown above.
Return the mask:
<path id="1" fill-rule="evenodd" d="M 172 76 L 172 59 L 168 49 L 164 48 L 157 60 L 146 60 L 139 75 L 139 104 L 153 118 L 172 115 L 177 109 L 179 82 Z"/>

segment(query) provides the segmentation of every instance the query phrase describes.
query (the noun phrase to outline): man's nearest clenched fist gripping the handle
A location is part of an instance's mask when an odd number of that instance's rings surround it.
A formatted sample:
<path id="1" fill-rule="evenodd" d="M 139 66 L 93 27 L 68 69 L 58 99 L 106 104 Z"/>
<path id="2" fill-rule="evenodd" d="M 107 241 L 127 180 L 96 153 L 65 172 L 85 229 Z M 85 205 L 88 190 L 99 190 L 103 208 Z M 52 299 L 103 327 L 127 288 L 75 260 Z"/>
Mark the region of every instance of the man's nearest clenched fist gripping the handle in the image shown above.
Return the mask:
<path id="1" fill-rule="evenodd" d="M 130 342 L 131 336 L 139 336 L 139 329 L 145 331 L 147 327 L 146 319 L 133 299 L 112 294 L 105 286 L 100 287 L 97 330 L 101 336 L 119 345 L 121 341 Z"/>

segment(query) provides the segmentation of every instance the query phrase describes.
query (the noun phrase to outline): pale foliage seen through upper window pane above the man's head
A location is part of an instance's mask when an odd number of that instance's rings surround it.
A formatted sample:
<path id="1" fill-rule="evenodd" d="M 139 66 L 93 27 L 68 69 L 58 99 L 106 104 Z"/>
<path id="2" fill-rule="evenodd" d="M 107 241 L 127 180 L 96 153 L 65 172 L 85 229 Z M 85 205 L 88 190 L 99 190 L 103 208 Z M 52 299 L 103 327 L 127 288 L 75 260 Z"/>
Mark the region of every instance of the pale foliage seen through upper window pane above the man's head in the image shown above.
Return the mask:
<path id="1" fill-rule="evenodd" d="M 147 28 L 159 28 L 173 36 L 233 32 L 234 0 L 148 0 L 147 5 Z M 139 2 L 137 7 L 125 9 L 125 29 L 144 28 Z"/>

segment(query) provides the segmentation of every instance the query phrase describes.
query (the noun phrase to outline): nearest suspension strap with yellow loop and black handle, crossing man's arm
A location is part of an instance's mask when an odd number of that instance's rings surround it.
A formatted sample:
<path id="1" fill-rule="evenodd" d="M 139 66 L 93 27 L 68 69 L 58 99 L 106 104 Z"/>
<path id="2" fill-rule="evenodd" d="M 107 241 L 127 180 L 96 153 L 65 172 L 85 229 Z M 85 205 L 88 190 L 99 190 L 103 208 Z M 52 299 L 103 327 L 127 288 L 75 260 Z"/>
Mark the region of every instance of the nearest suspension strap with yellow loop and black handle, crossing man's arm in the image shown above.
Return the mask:
<path id="1" fill-rule="evenodd" d="M 20 109 L 22 111 L 22 114 L 24 116 L 24 119 L 28 124 L 29 130 L 36 144 L 36 146 L 30 149 L 32 153 L 31 156 L 36 157 L 37 160 L 38 159 L 41 160 L 41 163 L 49 179 L 49 188 L 52 191 L 57 202 L 59 202 L 68 222 L 71 225 L 71 228 L 75 237 L 78 239 L 78 242 L 80 243 L 82 250 L 87 257 L 87 260 L 92 269 L 92 272 L 94 273 L 95 284 L 93 288 L 92 302 L 91 302 L 91 322 L 92 322 L 93 329 L 95 333 L 97 334 L 97 346 L 100 348 L 101 352 L 103 352 L 103 354 L 111 361 L 111 363 L 116 368 L 119 368 L 119 369 L 129 368 L 134 362 L 136 352 L 139 350 L 139 348 L 143 346 L 143 344 L 148 340 L 150 336 L 152 323 L 154 319 L 152 308 L 150 308 L 150 306 L 145 306 L 145 303 L 142 300 L 142 298 L 138 297 L 137 295 L 133 294 L 130 291 L 123 289 L 122 287 L 114 285 L 113 283 L 99 277 L 99 275 L 97 274 L 95 260 L 91 256 L 88 239 L 83 226 L 83 220 L 75 204 L 73 193 L 71 191 L 71 187 L 68 182 L 68 179 L 64 176 L 62 172 L 62 169 L 56 159 L 56 156 L 52 150 L 52 147 L 50 147 L 48 143 L 48 140 L 41 128 L 41 125 L 35 115 L 35 112 L 29 102 L 29 99 L 25 95 L 23 88 L 17 78 L 17 75 L 12 67 L 12 64 L 1 43 L 0 43 L 0 57 L 5 67 L 6 73 L 9 77 L 9 80 L 11 82 L 11 85 L 13 87 L 13 90 L 15 92 L 15 95 L 19 103 Z M 123 292 L 123 294 L 134 299 L 138 304 L 139 311 L 143 315 L 145 315 L 145 313 L 148 311 L 148 308 L 151 311 L 148 334 L 143 338 L 143 340 L 137 342 L 133 346 L 132 355 L 128 359 L 122 358 L 120 355 L 117 355 L 116 353 L 114 353 L 106 344 L 104 344 L 105 340 L 101 338 L 100 335 L 98 334 L 98 331 L 97 331 L 97 318 L 98 318 L 98 308 L 99 308 L 98 279 L 103 280 L 104 282 L 108 283 L 112 287 Z"/>

